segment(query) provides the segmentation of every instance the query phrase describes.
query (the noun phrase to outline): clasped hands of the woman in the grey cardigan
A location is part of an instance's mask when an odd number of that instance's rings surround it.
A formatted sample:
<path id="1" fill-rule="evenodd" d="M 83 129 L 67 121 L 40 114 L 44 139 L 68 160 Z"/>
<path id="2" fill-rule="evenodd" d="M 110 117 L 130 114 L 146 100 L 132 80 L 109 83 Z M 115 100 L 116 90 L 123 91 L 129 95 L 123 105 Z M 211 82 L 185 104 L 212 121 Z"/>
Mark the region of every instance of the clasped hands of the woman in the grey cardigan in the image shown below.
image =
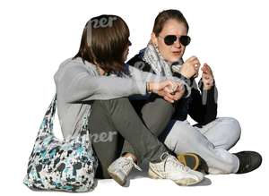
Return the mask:
<path id="1" fill-rule="evenodd" d="M 182 98 L 185 88 L 182 83 L 175 81 L 150 82 L 151 91 L 155 92 L 170 103 Z"/>

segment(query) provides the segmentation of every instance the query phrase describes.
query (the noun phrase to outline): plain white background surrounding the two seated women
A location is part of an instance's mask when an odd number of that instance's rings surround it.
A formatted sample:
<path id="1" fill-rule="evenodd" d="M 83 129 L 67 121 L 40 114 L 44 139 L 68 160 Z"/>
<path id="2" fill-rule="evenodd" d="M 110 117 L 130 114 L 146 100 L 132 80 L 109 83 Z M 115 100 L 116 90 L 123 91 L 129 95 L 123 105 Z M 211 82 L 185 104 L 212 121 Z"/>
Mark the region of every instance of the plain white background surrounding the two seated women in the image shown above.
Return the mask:
<path id="1" fill-rule="evenodd" d="M 31 192 L 22 184 L 39 124 L 55 93 L 58 65 L 78 50 L 91 17 L 121 16 L 131 31 L 130 55 L 146 46 L 153 20 L 164 9 L 185 14 L 196 55 L 212 66 L 219 89 L 219 116 L 233 116 L 242 127 L 231 149 L 259 151 L 263 165 L 246 175 L 208 175 L 211 184 L 180 187 L 146 177 L 122 188 L 99 181 L 91 195 L 252 195 L 268 194 L 268 4 L 266 1 L 1 1 L 1 159 L 0 195 L 56 195 Z M 57 124 L 57 122 L 56 122 Z M 55 130 L 60 135 L 59 127 Z M 263 192 L 263 193 L 262 193 Z M 67 195 L 67 194 L 66 194 Z"/>

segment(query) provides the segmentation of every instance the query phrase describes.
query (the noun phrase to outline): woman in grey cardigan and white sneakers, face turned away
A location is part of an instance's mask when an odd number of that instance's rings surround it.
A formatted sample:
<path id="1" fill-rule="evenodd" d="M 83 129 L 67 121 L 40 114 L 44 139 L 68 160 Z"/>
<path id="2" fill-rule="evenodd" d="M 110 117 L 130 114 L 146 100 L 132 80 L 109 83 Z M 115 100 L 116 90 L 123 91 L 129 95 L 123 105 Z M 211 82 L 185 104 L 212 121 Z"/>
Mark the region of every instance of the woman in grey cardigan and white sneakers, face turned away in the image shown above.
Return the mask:
<path id="1" fill-rule="evenodd" d="M 128 99 L 131 95 L 146 96 L 151 92 L 169 101 L 178 100 L 185 91 L 184 81 L 177 78 L 168 81 L 153 74 L 147 77 L 147 73 L 127 67 L 130 45 L 129 29 L 120 17 L 100 15 L 87 22 L 78 53 L 61 64 L 55 74 L 63 135 L 65 139 L 76 136 L 82 117 L 91 112 L 88 127 L 92 148 L 99 159 L 98 178 L 111 176 L 124 185 L 130 168 L 139 168 L 132 157 L 127 154 L 121 157 L 126 140 L 134 147 L 136 158 L 149 160 L 151 177 L 170 179 L 180 185 L 199 183 L 204 175 L 170 155 L 143 124 Z M 166 113 L 160 106 L 155 109 Z M 169 123 L 164 118 L 159 121 Z"/>

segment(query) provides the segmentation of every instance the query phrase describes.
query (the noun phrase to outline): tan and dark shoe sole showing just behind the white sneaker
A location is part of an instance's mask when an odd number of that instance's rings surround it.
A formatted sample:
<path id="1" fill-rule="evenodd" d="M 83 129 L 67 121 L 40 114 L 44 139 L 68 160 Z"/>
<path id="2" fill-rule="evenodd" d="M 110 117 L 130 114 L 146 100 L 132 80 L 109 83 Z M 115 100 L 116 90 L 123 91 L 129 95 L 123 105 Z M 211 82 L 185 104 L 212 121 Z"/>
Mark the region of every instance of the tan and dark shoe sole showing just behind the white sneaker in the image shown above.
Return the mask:
<path id="1" fill-rule="evenodd" d="M 177 156 L 178 161 L 192 170 L 197 170 L 200 166 L 200 159 L 193 153 L 185 153 Z"/>

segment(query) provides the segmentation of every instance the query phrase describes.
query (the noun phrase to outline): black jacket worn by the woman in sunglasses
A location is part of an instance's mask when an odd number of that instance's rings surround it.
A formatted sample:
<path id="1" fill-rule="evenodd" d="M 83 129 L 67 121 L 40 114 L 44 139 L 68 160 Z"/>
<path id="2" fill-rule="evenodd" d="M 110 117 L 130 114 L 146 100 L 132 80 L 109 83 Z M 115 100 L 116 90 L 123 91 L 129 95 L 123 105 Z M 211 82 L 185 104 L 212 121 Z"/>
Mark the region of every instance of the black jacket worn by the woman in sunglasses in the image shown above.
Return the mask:
<path id="1" fill-rule="evenodd" d="M 143 72 L 153 72 L 151 65 L 143 61 L 142 53 L 134 55 L 127 64 L 139 68 Z M 173 72 L 173 76 L 184 78 L 178 72 Z M 194 79 L 189 80 L 188 83 L 191 87 L 191 95 L 175 102 L 176 112 L 173 118 L 184 121 L 187 119 L 187 115 L 190 115 L 199 125 L 212 122 L 217 115 L 217 89 L 215 85 L 210 90 L 203 90 L 203 82 L 199 81 L 199 90 Z M 206 100 L 204 104 L 202 102 L 203 96 Z"/>

